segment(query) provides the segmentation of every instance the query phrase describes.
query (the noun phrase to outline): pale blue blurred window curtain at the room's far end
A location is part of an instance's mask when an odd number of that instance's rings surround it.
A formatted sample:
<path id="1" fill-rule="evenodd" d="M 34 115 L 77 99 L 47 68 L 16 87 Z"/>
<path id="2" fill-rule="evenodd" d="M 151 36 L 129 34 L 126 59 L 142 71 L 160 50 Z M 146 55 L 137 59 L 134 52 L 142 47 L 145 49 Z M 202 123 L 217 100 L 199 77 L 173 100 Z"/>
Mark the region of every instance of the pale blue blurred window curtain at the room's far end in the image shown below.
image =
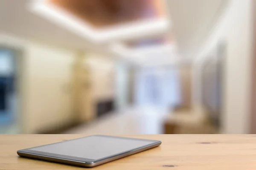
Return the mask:
<path id="1" fill-rule="evenodd" d="M 169 108 L 180 103 L 180 81 L 175 68 L 141 68 L 135 81 L 138 106 Z"/>

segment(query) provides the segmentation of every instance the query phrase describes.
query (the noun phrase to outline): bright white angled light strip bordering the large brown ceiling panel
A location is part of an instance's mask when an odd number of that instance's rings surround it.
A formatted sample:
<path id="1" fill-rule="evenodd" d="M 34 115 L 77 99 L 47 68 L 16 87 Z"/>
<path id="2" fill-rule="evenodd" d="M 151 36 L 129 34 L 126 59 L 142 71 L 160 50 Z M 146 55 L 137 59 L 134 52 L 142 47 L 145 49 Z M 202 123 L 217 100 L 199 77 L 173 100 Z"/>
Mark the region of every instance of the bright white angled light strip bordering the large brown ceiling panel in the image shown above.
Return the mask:
<path id="1" fill-rule="evenodd" d="M 68 12 L 46 3 L 46 0 L 33 0 L 29 10 L 51 20 L 76 34 L 89 38 L 93 42 L 127 40 L 131 38 L 164 34 L 169 31 L 167 18 L 156 18 L 112 26 L 104 29 L 93 28 L 89 23 L 79 20 Z"/>

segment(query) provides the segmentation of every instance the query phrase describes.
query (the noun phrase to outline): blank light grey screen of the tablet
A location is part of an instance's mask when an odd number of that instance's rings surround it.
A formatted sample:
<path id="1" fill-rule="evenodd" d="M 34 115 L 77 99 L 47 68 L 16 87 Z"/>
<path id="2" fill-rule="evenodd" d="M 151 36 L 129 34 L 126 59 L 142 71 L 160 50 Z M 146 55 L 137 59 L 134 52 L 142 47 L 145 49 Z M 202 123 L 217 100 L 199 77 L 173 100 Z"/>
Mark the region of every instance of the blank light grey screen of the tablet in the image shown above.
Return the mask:
<path id="1" fill-rule="evenodd" d="M 33 147 L 29 150 L 76 156 L 87 159 L 102 159 L 117 153 L 152 144 L 152 141 L 109 136 L 88 136 L 55 144 Z"/>

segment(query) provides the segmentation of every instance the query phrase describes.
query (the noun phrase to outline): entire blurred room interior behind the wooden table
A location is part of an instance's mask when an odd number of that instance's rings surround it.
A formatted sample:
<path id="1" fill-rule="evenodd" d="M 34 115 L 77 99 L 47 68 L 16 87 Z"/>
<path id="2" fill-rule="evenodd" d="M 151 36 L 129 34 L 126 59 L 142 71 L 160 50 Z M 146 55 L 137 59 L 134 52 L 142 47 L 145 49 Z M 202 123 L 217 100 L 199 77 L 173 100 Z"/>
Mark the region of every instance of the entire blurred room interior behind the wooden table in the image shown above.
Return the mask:
<path id="1" fill-rule="evenodd" d="M 256 133 L 254 0 L 0 0 L 0 133 Z"/>

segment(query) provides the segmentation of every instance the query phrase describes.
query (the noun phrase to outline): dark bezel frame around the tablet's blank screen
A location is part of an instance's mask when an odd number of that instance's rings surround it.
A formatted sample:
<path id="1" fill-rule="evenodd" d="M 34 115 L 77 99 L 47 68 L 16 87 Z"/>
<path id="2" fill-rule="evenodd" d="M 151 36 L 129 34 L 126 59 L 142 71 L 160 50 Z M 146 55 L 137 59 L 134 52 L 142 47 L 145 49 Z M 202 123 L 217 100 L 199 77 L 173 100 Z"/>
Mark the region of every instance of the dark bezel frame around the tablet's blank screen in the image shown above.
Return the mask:
<path id="1" fill-rule="evenodd" d="M 152 143 L 146 144 L 146 145 L 143 145 L 143 146 L 140 146 L 140 147 L 137 147 L 137 148 L 133 148 L 131 150 L 125 150 L 124 152 L 116 153 L 114 155 L 110 155 L 110 156 L 103 157 L 103 158 L 100 158 L 100 159 L 87 159 L 87 158 L 81 158 L 81 157 L 76 157 L 76 156 L 67 156 L 67 155 L 61 155 L 61 154 L 55 154 L 55 153 L 48 153 L 48 152 L 30 150 L 30 149 L 35 148 L 35 147 L 18 150 L 17 153 L 26 153 L 26 154 L 31 154 L 31 155 L 43 156 L 43 157 L 50 157 L 50 158 L 55 158 L 55 159 L 62 159 L 62 160 L 69 160 L 69 161 L 76 161 L 76 162 L 81 162 L 81 163 L 92 164 L 92 163 L 96 163 L 96 162 L 99 162 L 99 161 L 103 161 L 105 159 L 113 158 L 115 156 L 119 156 L 119 155 L 122 155 L 122 154 L 125 154 L 125 153 L 129 153 L 129 152 L 132 152 L 134 150 L 138 150 L 140 148 L 145 148 L 145 147 L 149 147 L 149 146 L 154 145 L 154 144 L 161 143 L 161 141 L 158 141 L 158 140 L 137 139 L 137 138 L 128 138 L 128 137 L 120 137 L 120 136 L 106 136 L 106 135 L 92 135 L 92 136 L 129 139 L 129 140 L 146 141 L 146 142 L 152 142 Z M 86 136 L 86 137 L 82 137 L 82 138 L 87 138 L 87 137 L 90 137 L 90 136 Z M 71 140 L 78 140 L 78 139 L 82 139 L 82 138 L 71 139 Z M 62 142 L 68 142 L 68 141 L 70 141 L 70 140 L 62 141 Z M 52 143 L 52 144 L 57 144 L 57 143 L 61 143 L 61 142 L 56 142 L 56 143 Z M 45 145 L 41 145 L 41 146 L 47 146 L 47 145 L 50 145 L 50 144 L 45 144 Z M 41 147 L 41 146 L 37 146 L 37 147 Z"/>

